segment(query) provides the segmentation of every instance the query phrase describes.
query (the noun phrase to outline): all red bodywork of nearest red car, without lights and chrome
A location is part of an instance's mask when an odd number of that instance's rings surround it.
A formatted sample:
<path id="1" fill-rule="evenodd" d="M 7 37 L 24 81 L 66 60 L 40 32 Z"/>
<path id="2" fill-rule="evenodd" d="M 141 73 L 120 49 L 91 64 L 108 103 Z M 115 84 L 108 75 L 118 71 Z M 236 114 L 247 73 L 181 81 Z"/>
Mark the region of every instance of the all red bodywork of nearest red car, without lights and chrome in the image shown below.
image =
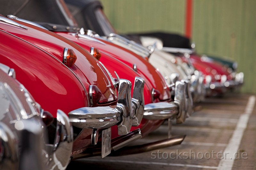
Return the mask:
<path id="1" fill-rule="evenodd" d="M 89 85 L 97 85 L 105 95 L 101 101 L 109 101 L 100 106 L 116 105 L 117 89 L 113 84 L 108 86 L 109 76 L 91 54 L 55 33 L 19 23 L 28 30 L 0 24 L 1 63 L 16 70 L 17 80 L 45 110 L 56 118 L 57 109 L 68 114 L 77 108 L 88 107 Z M 74 50 L 77 65 L 68 68 L 62 63 L 64 48 Z M 91 134 L 92 129 L 84 129 L 74 141 L 73 151 L 91 145 Z"/>

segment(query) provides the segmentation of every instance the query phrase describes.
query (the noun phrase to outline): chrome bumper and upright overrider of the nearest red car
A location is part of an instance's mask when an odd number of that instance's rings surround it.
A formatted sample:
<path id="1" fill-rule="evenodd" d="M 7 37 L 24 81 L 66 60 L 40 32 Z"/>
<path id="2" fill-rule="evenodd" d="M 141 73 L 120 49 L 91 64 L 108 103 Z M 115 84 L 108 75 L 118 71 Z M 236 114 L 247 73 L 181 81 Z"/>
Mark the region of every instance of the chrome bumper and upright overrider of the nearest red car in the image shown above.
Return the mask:
<path id="1" fill-rule="evenodd" d="M 126 135 L 132 127 L 131 82 L 120 79 L 116 108 L 82 107 L 68 113 L 73 126 L 85 128 L 109 128 L 116 124 L 118 135 Z"/>

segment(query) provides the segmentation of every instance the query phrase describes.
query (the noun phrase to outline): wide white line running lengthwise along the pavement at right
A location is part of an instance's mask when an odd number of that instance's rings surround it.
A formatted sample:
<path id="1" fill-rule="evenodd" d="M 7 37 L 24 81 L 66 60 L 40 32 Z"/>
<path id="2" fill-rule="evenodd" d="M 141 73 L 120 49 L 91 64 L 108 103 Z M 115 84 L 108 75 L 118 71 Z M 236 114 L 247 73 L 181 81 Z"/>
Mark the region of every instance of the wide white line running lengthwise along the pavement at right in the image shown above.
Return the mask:
<path id="1" fill-rule="evenodd" d="M 252 110 L 254 108 L 255 100 L 255 96 L 250 96 L 244 114 L 240 116 L 239 121 L 236 125 L 236 129 L 233 132 L 233 136 L 230 138 L 228 146 L 224 151 L 224 153 L 228 153 L 227 157 L 226 159 L 220 160 L 218 170 L 232 169 L 235 160 L 235 153 L 238 151 L 238 148 L 240 146 L 244 130 L 247 127 L 249 117 L 252 114 Z"/>

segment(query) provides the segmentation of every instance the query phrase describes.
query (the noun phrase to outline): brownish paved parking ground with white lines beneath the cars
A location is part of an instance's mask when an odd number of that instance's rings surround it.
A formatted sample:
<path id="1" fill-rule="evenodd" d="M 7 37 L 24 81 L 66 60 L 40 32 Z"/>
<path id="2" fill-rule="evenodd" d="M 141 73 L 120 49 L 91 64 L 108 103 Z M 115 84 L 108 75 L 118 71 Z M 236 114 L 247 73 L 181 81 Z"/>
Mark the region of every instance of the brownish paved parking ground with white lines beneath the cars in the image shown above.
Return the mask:
<path id="1" fill-rule="evenodd" d="M 184 124 L 173 125 L 173 136 L 187 135 L 181 145 L 128 156 L 79 159 L 67 169 L 256 169 L 254 102 L 254 95 L 239 93 L 208 98 Z M 137 144 L 164 139 L 167 131 L 164 123 Z"/>

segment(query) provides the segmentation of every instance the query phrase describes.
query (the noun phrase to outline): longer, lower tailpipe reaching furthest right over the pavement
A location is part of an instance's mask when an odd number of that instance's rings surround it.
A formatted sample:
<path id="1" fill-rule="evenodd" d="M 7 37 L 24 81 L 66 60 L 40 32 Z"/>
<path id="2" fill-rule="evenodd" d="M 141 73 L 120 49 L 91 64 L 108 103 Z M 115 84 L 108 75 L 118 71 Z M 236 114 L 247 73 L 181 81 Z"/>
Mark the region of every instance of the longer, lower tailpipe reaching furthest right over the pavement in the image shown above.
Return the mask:
<path id="1" fill-rule="evenodd" d="M 184 140 L 185 137 L 186 137 L 186 135 L 172 137 L 170 139 L 164 139 L 164 140 L 152 142 L 149 144 L 126 146 L 126 147 L 123 147 L 115 152 L 111 152 L 111 154 L 109 156 L 131 155 L 131 154 L 137 154 L 137 153 L 142 153 L 142 152 L 149 152 L 149 151 L 153 151 L 156 149 L 162 149 L 162 148 L 181 144 L 181 142 Z"/>

